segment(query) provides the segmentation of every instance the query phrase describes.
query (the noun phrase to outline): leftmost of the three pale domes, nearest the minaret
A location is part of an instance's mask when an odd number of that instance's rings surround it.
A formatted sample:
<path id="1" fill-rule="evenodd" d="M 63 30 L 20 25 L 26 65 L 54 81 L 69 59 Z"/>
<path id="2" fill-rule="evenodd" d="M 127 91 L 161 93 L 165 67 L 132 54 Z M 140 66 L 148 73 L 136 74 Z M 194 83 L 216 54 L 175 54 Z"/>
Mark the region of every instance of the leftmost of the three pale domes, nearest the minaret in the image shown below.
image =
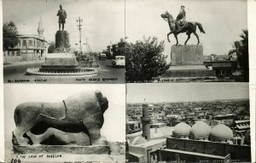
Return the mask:
<path id="1" fill-rule="evenodd" d="M 187 123 L 180 122 L 176 126 L 174 126 L 174 131 L 172 132 L 172 135 L 174 137 L 182 136 L 182 137 L 189 137 L 191 126 L 189 126 Z"/>

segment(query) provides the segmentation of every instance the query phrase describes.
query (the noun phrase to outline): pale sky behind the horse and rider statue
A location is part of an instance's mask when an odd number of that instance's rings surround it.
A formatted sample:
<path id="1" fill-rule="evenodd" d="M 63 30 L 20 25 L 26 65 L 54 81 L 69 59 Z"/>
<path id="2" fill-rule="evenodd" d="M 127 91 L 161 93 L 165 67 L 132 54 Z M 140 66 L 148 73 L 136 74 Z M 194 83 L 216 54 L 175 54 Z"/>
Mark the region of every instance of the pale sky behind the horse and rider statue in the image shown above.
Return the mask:
<path id="1" fill-rule="evenodd" d="M 224 54 L 232 48 L 232 42 L 241 40 L 242 29 L 247 29 L 246 0 L 126 0 L 125 3 L 125 35 L 127 42 L 143 40 L 143 37 L 158 37 L 164 40 L 164 54 L 170 55 L 171 45 L 176 43 L 173 35 L 171 43 L 167 41 L 170 31 L 168 23 L 160 17 L 168 11 L 174 18 L 180 6 L 185 6 L 186 20 L 201 22 L 206 34 L 197 28 L 197 34 L 204 47 L 204 55 L 211 53 Z M 183 44 L 187 36 L 178 35 Z M 194 34 L 188 44 L 196 44 Z"/>

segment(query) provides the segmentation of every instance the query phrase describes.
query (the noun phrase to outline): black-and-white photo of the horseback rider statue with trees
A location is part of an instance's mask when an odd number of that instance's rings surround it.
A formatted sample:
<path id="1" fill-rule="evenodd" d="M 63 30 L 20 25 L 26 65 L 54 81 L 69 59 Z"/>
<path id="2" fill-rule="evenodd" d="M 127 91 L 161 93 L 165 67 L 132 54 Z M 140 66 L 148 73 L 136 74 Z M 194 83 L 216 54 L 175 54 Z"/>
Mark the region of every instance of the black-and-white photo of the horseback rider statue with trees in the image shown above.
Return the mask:
<path id="1" fill-rule="evenodd" d="M 126 0 L 126 82 L 248 82 L 247 1 Z"/>

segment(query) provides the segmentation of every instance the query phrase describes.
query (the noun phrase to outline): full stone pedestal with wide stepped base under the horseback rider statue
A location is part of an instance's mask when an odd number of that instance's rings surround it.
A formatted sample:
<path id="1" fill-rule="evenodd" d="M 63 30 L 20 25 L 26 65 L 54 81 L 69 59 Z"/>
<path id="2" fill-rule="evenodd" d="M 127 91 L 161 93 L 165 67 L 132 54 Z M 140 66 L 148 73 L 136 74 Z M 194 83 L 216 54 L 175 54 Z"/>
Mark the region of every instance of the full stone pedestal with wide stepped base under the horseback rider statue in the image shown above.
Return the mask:
<path id="1" fill-rule="evenodd" d="M 173 82 L 192 82 L 217 79 L 214 70 L 208 70 L 204 62 L 202 45 L 173 45 L 171 66 L 161 79 Z"/>

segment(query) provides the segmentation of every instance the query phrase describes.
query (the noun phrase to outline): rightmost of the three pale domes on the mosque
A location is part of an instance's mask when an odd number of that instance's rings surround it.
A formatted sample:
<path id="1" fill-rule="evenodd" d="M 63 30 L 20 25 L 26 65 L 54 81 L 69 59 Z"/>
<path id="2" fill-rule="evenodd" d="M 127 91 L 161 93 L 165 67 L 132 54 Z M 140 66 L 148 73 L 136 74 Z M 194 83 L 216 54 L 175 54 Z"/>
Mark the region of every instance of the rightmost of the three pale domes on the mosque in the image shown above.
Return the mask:
<path id="1" fill-rule="evenodd" d="M 214 126 L 210 133 L 210 138 L 212 140 L 229 140 L 233 138 L 233 132 L 229 126 L 225 126 L 224 124 L 219 124 Z"/>

